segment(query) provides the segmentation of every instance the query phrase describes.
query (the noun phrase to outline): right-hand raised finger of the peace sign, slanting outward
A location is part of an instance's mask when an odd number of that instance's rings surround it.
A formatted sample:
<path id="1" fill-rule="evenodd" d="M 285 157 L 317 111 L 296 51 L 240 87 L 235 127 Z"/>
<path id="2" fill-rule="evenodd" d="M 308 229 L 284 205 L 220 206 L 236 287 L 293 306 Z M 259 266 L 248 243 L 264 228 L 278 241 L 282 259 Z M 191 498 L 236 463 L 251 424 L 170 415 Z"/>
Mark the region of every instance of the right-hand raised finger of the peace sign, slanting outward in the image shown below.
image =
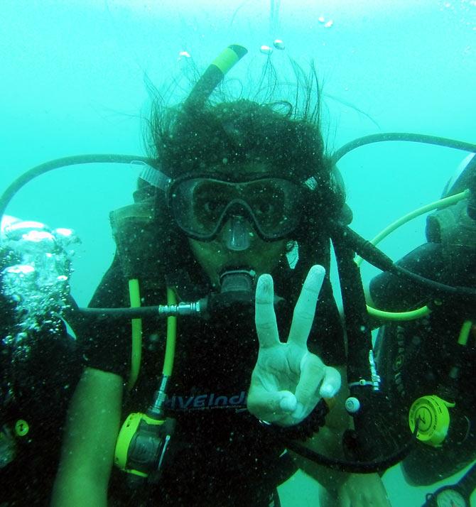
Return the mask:
<path id="1" fill-rule="evenodd" d="M 306 347 L 310 327 L 313 325 L 315 305 L 318 302 L 324 277 L 325 268 L 323 266 L 315 264 L 310 268 L 308 276 L 304 280 L 296 307 L 294 307 L 288 343 L 294 342 L 300 347 Z"/>

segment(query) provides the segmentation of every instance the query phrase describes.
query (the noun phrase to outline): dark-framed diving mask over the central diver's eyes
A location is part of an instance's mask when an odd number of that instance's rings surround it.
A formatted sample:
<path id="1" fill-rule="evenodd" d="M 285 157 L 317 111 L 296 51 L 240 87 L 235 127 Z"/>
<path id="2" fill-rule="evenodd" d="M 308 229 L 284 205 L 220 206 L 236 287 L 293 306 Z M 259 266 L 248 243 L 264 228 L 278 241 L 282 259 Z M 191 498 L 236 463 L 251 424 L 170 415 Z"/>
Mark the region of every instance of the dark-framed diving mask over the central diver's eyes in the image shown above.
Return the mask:
<path id="1" fill-rule="evenodd" d="M 180 229 L 193 239 L 215 239 L 230 217 L 245 217 L 261 239 L 286 238 L 301 220 L 303 189 L 284 178 L 230 182 L 210 175 L 184 176 L 168 191 Z"/>

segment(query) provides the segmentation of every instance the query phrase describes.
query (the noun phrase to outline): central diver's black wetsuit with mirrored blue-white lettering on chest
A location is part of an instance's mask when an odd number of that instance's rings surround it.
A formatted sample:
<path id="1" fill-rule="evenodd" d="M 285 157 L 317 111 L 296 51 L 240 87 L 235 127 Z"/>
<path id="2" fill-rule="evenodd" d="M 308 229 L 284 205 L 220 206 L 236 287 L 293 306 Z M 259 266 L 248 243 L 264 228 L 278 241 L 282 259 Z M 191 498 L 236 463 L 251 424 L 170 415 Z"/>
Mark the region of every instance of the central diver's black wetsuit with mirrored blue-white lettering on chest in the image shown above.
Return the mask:
<path id="1" fill-rule="evenodd" d="M 200 271 L 198 266 L 193 266 Z M 291 276 L 291 270 L 290 270 Z M 144 287 L 150 283 L 144 283 Z M 165 286 L 144 289 L 142 305 L 165 302 Z M 114 261 L 92 300 L 92 306 L 128 305 L 127 283 Z M 195 300 L 193 288 L 183 300 Z M 286 280 L 275 280 L 278 295 L 286 297 Z M 330 290 L 330 285 L 328 285 Z M 324 291 L 325 292 L 325 291 Z M 201 295 L 205 295 L 202 293 Z M 179 294 L 180 295 L 180 294 Z M 181 296 L 180 296 L 181 297 Z M 329 322 L 325 302 L 321 315 Z M 281 337 L 286 338 L 293 302 L 277 311 Z M 319 328 L 319 321 L 323 329 Z M 158 387 L 163 366 L 165 321 L 144 320 L 143 361 L 136 387 L 126 397 L 123 418 L 146 411 Z M 344 364 L 342 329 L 326 329 L 315 320 L 311 348 L 327 364 Z M 323 341 L 325 339 L 325 342 Z M 97 322 L 90 329 L 85 355 L 91 367 L 112 371 L 126 380 L 131 356 L 129 320 L 112 325 Z M 127 491 L 124 472 L 114 471 L 110 491 L 115 505 L 161 506 L 269 506 L 276 501 L 276 486 L 295 467 L 272 429 L 261 425 L 246 410 L 246 394 L 256 363 L 258 342 L 254 307 L 231 307 L 209 320 L 180 317 L 173 376 L 168 389 L 167 415 L 177 421 L 173 459 L 164 467 L 158 485 L 145 485 L 139 493 Z M 283 454 L 281 456 L 281 454 Z M 140 499 L 137 497 L 141 497 Z"/>

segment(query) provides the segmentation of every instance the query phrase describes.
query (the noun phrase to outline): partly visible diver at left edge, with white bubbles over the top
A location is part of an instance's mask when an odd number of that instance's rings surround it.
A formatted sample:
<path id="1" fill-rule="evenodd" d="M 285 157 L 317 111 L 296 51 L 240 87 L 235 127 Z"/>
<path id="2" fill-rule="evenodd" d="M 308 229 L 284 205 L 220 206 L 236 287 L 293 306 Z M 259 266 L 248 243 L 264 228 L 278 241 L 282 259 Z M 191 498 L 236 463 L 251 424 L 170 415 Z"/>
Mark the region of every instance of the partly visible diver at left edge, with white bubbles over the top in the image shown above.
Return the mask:
<path id="1" fill-rule="evenodd" d="M 60 318 L 72 238 L 4 217 L 0 239 L 0 505 L 46 506 L 60 432 L 80 378 L 75 339 Z M 52 367 L 52 365 L 55 365 Z"/>

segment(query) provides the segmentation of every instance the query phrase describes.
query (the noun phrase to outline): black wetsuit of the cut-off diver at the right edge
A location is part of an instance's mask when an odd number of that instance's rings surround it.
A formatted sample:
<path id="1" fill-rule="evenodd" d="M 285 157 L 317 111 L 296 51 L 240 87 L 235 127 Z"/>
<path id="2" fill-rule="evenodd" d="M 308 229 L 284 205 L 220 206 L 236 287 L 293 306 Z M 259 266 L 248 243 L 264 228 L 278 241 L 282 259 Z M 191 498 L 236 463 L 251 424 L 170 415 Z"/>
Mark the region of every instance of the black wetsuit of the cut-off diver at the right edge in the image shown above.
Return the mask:
<path id="1" fill-rule="evenodd" d="M 428 243 L 405 256 L 399 264 L 442 283 L 476 287 L 474 248 L 461 247 L 448 252 L 443 251 L 442 244 Z M 413 309 L 430 300 L 414 283 L 386 273 L 372 280 L 371 293 L 377 307 L 391 311 Z M 474 303 L 444 298 L 442 305 L 433 305 L 428 317 L 387 324 L 379 331 L 377 365 L 382 388 L 392 407 L 386 421 L 389 442 L 401 445 L 409 439 L 409 408 L 418 397 L 455 396 L 455 408 L 450 409 L 450 431 L 442 447 L 418 443 L 404 460 L 404 474 L 411 484 L 440 481 L 476 458 L 474 328 L 466 347 L 457 344 L 463 322 L 475 322 L 475 314 Z M 448 380 L 453 366 L 460 368 L 456 386 Z"/>

